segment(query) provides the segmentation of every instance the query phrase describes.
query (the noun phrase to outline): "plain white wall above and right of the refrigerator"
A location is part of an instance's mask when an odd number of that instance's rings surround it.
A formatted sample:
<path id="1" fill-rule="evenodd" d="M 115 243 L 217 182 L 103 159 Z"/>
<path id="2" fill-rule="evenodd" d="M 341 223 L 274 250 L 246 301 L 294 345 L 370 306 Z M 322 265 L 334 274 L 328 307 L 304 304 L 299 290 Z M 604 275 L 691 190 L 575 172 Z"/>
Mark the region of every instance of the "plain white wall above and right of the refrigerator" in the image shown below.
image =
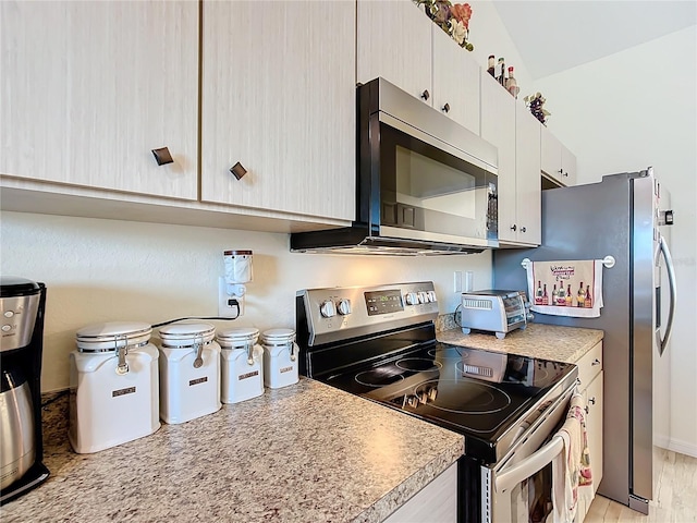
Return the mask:
<path id="1" fill-rule="evenodd" d="M 672 196 L 677 309 L 669 350 L 670 415 L 657 441 L 697 455 L 697 34 L 670 34 L 537 82 L 548 127 L 578 158 L 578 183 L 652 166 Z M 665 362 L 658 362 L 664 365 Z"/>

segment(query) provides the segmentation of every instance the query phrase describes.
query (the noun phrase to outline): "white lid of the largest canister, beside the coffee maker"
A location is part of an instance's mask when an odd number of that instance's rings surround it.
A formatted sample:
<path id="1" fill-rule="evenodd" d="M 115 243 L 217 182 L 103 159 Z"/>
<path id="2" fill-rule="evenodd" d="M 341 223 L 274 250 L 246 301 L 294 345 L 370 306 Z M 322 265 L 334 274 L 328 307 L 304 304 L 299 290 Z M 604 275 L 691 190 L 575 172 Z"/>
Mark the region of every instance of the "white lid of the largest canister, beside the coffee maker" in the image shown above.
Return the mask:
<path id="1" fill-rule="evenodd" d="M 110 352 L 122 346 L 144 345 L 152 327 L 143 321 L 108 321 L 80 329 L 75 336 L 81 352 Z"/>

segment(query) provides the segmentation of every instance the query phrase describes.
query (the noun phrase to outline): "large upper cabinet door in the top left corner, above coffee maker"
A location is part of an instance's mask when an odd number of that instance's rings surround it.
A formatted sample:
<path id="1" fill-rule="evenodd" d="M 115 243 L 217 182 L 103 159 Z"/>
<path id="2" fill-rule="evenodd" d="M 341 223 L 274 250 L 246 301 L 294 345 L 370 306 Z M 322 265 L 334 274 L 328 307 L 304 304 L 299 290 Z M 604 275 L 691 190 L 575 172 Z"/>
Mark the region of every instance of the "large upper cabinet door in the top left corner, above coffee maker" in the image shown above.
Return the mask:
<path id="1" fill-rule="evenodd" d="M 196 2 L 3 1 L 0 44 L 0 174 L 197 198 Z"/>

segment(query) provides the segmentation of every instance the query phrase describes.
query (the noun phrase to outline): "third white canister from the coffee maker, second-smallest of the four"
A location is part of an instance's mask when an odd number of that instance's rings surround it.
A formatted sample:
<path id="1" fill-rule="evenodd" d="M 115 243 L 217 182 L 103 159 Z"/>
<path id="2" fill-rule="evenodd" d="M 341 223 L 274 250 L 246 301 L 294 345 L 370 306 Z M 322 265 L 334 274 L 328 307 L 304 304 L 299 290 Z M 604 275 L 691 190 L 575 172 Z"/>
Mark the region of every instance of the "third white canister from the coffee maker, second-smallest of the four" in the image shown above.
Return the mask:
<path id="1" fill-rule="evenodd" d="M 264 349 L 259 329 L 242 327 L 219 331 L 222 402 L 239 403 L 264 393 Z"/>

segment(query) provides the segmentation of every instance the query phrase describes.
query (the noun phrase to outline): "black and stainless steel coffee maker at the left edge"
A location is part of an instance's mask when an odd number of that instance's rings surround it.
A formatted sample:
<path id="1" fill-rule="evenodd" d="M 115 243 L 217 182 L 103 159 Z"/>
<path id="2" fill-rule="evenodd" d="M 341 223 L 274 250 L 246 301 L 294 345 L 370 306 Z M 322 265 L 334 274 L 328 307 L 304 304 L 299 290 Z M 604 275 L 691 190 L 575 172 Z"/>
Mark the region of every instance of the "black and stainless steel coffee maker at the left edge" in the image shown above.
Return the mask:
<path id="1" fill-rule="evenodd" d="M 46 285 L 0 277 L 0 504 L 48 478 L 41 463 Z"/>

